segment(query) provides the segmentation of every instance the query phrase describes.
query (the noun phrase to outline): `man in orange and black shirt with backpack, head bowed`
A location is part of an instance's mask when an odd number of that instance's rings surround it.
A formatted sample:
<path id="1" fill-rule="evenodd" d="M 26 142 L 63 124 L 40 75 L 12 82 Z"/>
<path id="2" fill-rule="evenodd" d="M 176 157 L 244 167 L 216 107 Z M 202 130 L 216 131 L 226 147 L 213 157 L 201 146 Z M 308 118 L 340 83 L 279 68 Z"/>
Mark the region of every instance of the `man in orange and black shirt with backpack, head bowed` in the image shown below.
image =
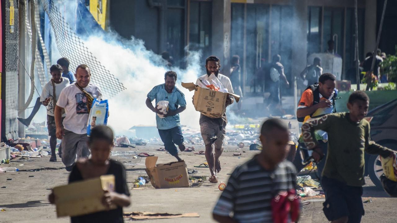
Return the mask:
<path id="1" fill-rule="evenodd" d="M 310 119 L 321 117 L 329 113 L 333 113 L 335 107 L 335 96 L 336 96 L 336 77 L 331 73 L 324 73 L 318 79 L 318 85 L 312 85 L 308 87 L 302 94 L 301 100 L 299 101 L 297 118 L 298 121 L 306 122 Z M 328 146 L 328 135 L 324 131 L 316 131 L 316 139 L 322 147 L 323 153 L 327 154 Z M 299 150 L 308 155 L 307 149 L 303 144 L 303 139 L 299 138 L 299 145 L 297 156 L 295 157 L 294 164 L 299 171 L 304 166 L 299 156 Z M 325 159 L 317 163 L 318 173 L 321 176 L 321 172 L 324 169 Z"/>

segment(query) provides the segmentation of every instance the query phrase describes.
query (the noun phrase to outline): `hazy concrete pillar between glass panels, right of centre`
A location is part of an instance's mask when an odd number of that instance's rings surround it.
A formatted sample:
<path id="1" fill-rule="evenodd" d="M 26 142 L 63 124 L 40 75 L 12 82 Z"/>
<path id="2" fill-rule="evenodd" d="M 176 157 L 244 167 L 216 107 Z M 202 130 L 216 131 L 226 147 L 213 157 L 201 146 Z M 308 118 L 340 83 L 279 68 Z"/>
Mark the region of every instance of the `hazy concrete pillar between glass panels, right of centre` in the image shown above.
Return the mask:
<path id="1" fill-rule="evenodd" d="M 307 0 L 293 1 L 292 75 L 299 76 L 307 64 Z"/>

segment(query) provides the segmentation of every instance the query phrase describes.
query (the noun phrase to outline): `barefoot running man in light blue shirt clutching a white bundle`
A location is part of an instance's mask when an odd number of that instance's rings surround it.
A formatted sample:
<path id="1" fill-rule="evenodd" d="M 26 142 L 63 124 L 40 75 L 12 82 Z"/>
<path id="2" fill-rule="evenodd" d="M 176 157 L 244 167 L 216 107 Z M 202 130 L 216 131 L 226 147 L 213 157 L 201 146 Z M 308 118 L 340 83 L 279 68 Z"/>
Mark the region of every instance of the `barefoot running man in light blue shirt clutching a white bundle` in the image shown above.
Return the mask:
<path id="1" fill-rule="evenodd" d="M 174 71 L 167 71 L 164 75 L 165 83 L 154 87 L 146 98 L 146 106 L 152 112 L 162 115 L 164 118 L 156 114 L 156 123 L 158 134 L 164 142 L 164 148 L 178 161 L 182 159 L 178 156 L 178 150 L 175 144 L 178 145 L 179 150 L 184 151 L 183 136 L 181 129 L 181 119 L 179 113 L 186 109 L 185 95 L 175 87 L 177 74 Z M 156 100 L 156 107 L 153 107 L 152 101 Z M 168 101 L 168 112 L 162 113 L 161 108 L 157 108 L 157 103 L 160 101 Z"/>

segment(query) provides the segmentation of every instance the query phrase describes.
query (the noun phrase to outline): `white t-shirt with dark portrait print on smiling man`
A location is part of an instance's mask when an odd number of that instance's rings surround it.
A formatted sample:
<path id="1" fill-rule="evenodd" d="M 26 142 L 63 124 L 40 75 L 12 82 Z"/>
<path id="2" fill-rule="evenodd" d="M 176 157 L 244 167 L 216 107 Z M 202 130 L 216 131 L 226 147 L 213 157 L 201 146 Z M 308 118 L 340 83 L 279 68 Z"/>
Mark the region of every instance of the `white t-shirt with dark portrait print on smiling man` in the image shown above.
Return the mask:
<path id="1" fill-rule="evenodd" d="M 84 88 L 94 98 L 100 99 L 102 93 L 96 85 L 89 84 Z M 85 94 L 75 85 L 69 85 L 62 90 L 57 106 L 65 108 L 64 129 L 76 134 L 87 134 L 88 109 Z"/>

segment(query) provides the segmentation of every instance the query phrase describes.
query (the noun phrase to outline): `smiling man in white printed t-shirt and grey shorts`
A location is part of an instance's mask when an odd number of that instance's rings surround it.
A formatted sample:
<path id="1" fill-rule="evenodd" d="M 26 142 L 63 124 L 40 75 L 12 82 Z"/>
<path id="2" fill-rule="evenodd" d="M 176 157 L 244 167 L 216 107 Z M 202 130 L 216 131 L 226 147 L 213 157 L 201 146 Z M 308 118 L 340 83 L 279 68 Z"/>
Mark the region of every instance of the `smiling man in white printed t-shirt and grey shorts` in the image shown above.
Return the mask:
<path id="1" fill-rule="evenodd" d="M 88 158 L 87 122 L 94 98 L 100 99 L 100 88 L 90 83 L 90 68 L 81 64 L 76 68 L 76 83 L 64 88 L 55 107 L 56 137 L 62 139 L 62 162 L 71 171 L 75 158 Z M 66 117 L 62 127 L 62 109 Z"/>

